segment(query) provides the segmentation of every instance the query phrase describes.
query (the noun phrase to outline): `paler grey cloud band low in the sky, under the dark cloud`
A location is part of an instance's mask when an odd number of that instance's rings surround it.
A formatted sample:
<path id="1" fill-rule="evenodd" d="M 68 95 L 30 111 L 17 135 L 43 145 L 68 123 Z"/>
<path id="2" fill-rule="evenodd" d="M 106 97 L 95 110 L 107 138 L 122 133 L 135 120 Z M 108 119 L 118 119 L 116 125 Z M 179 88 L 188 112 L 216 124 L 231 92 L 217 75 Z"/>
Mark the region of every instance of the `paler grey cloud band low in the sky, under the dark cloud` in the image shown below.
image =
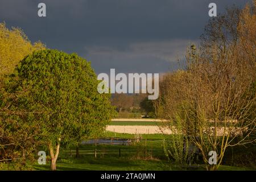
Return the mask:
<path id="1" fill-rule="evenodd" d="M 145 72 L 149 69 L 155 72 L 171 71 L 177 68 L 177 59 L 184 57 L 187 46 L 196 44 L 196 40 L 175 39 L 170 41 L 131 43 L 127 49 L 117 49 L 106 46 L 86 47 L 86 56 L 92 64 L 105 65 L 111 63 L 115 68 L 119 62 L 122 67 L 130 71 Z M 104 58 L 104 59 L 102 59 Z M 145 69 L 146 68 L 146 69 Z M 120 68 L 119 68 L 120 69 Z M 123 69 L 122 69 L 123 70 Z"/>

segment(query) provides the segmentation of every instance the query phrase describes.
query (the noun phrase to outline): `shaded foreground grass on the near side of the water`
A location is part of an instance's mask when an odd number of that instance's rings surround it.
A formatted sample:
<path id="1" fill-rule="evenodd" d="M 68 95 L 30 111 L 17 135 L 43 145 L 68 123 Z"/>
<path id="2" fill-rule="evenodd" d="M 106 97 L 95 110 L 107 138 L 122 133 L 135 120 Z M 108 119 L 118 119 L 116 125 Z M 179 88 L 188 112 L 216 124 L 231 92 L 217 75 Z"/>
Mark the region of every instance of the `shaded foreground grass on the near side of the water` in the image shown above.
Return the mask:
<path id="1" fill-rule="evenodd" d="M 34 170 L 48 171 L 50 164 L 32 166 Z M 169 166 L 166 161 L 161 160 L 143 160 L 143 159 L 127 159 L 127 158 L 79 158 L 64 159 L 61 158 L 57 162 L 58 171 L 177 171 L 177 170 L 194 170 L 204 171 L 204 165 L 199 168 L 179 168 L 177 166 Z M 218 171 L 248 171 L 255 170 L 253 168 L 220 166 Z"/>

